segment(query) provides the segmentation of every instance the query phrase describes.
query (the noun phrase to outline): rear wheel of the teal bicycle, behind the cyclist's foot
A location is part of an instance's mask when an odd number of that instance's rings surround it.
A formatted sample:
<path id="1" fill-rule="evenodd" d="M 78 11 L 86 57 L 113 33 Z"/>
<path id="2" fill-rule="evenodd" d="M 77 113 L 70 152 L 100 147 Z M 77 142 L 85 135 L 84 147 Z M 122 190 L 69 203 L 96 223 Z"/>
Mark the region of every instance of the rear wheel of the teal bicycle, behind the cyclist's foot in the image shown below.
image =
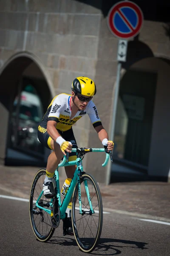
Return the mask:
<path id="1" fill-rule="evenodd" d="M 45 179 L 45 170 L 40 169 L 32 182 L 30 198 L 29 198 L 29 215 L 31 221 L 31 227 L 33 229 L 34 235 L 39 241 L 45 242 L 48 241 L 53 235 L 55 228 L 51 224 L 51 216 L 49 213 L 38 208 L 36 206 L 36 201 L 42 192 L 42 185 Z M 51 209 L 51 199 L 47 199 L 42 194 L 39 205 L 41 207 Z"/>

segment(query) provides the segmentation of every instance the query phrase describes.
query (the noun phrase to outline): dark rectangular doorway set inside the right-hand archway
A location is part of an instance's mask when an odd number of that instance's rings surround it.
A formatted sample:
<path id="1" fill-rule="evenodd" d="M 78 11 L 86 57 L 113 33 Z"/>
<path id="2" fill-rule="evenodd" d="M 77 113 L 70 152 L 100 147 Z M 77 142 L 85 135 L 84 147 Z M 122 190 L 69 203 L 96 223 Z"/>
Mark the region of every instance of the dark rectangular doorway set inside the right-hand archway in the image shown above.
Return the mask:
<path id="1" fill-rule="evenodd" d="M 119 89 L 113 158 L 147 173 L 157 74 L 128 70 Z"/>

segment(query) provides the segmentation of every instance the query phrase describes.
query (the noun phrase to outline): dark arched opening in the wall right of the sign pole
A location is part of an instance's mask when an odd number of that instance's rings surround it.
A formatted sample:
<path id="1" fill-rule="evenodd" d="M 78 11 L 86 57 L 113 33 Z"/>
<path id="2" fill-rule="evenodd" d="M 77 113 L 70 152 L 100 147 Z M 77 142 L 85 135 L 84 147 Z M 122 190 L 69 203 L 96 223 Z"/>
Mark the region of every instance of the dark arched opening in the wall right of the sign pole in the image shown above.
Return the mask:
<path id="1" fill-rule="evenodd" d="M 112 179 L 168 180 L 169 81 L 170 64 L 163 58 L 142 59 L 122 73 Z"/>

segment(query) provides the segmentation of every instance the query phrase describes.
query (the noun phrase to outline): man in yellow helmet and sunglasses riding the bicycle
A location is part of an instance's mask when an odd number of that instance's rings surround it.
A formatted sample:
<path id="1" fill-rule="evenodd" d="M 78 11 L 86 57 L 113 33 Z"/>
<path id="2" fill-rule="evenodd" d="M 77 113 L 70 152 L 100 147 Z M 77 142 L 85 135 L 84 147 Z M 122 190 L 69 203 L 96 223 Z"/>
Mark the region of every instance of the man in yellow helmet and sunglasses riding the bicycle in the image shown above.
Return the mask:
<path id="1" fill-rule="evenodd" d="M 70 153 L 68 160 L 76 160 L 76 153 L 71 152 L 72 147 L 77 148 L 72 125 L 82 116 L 88 114 L 94 129 L 98 133 L 99 140 L 104 146 L 107 146 L 108 151 L 113 150 L 113 142 L 108 140 L 108 133 L 102 126 L 94 102 L 91 101 L 96 94 L 94 81 L 88 77 L 77 77 L 74 79 L 71 89 L 71 95 L 61 93 L 54 97 L 38 127 L 40 143 L 53 150 L 48 157 L 43 184 L 43 192 L 46 198 L 52 198 L 55 195 L 53 175 L 63 154 L 66 155 L 66 152 L 68 152 Z M 68 178 L 73 177 L 75 169 L 76 166 L 65 166 Z M 68 217 L 71 217 L 69 215 L 70 208 L 71 204 L 69 203 L 67 209 Z M 68 233 L 73 234 L 71 224 L 68 228 Z"/>

